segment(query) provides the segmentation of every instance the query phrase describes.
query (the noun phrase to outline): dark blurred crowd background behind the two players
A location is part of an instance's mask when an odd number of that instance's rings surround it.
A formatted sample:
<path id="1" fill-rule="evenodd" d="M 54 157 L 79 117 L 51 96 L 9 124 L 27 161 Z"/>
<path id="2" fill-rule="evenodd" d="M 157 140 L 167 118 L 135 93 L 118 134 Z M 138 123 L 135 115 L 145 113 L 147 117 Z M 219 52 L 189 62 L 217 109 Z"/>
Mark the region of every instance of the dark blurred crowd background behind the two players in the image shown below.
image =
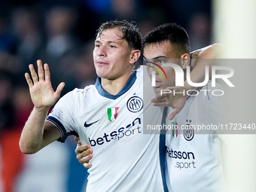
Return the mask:
<path id="1" fill-rule="evenodd" d="M 80 192 L 87 169 L 75 157 L 74 138 L 37 154 L 21 154 L 18 142 L 32 111 L 24 78 L 37 59 L 50 66 L 62 95 L 94 84 L 93 41 L 101 23 L 134 20 L 145 35 L 175 22 L 190 36 L 191 50 L 212 43 L 210 0 L 8 0 L 0 1 L 0 192 Z"/>

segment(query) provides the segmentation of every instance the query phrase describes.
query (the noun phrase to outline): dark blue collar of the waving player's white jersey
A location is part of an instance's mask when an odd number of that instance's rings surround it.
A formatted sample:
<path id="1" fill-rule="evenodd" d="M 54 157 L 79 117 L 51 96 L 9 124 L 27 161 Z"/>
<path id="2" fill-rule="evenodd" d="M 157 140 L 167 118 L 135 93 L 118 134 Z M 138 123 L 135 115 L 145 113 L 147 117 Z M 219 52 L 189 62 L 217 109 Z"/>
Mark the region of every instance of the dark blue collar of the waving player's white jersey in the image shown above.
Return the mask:
<path id="1" fill-rule="evenodd" d="M 106 92 L 105 90 L 102 89 L 102 84 L 100 83 L 100 78 L 99 77 L 96 79 L 95 87 L 96 87 L 96 90 L 98 90 L 99 95 L 104 96 L 104 97 L 106 97 L 108 99 L 117 99 L 118 97 L 120 97 L 124 93 L 126 93 L 126 91 L 130 89 L 130 87 L 133 86 L 133 84 L 135 83 L 136 79 L 137 79 L 137 75 L 136 75 L 136 71 L 135 71 L 130 76 L 130 78 L 128 79 L 126 85 L 123 87 L 123 89 L 120 90 L 120 92 L 117 93 L 117 95 L 115 95 L 115 96 L 109 94 L 108 92 Z"/>

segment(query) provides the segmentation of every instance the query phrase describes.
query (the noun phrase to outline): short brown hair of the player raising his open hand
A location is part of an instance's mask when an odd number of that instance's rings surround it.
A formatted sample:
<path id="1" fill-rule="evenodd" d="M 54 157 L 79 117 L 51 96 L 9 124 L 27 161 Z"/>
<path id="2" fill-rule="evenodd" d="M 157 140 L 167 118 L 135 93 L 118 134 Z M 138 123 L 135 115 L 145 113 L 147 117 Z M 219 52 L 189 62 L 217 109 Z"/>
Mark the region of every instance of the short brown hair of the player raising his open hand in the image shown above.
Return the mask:
<path id="1" fill-rule="evenodd" d="M 101 35 L 105 29 L 117 28 L 123 32 L 122 39 L 125 39 L 130 47 L 136 50 L 142 49 L 142 34 L 139 32 L 139 26 L 135 21 L 129 22 L 128 20 L 111 20 L 106 23 L 102 23 L 99 29 L 96 31 L 96 35 Z"/>

